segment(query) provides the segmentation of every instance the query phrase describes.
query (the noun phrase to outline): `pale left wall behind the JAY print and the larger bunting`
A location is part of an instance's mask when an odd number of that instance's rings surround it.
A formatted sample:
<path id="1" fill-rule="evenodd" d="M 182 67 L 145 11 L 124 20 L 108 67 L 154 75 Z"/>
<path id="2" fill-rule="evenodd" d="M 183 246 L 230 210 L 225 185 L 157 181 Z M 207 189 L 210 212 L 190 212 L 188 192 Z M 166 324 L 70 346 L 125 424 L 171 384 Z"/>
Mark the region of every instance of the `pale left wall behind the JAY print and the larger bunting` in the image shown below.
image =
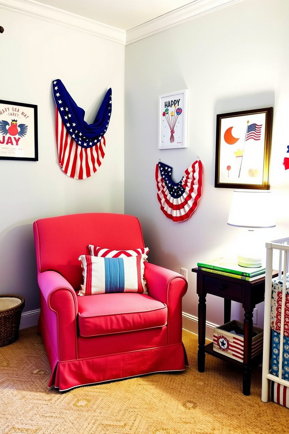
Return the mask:
<path id="1" fill-rule="evenodd" d="M 24 313 L 39 308 L 33 221 L 123 213 L 124 46 L 2 8 L 0 17 L 0 99 L 38 106 L 39 161 L 0 160 L 0 293 L 24 296 Z M 88 123 L 112 88 L 104 161 L 86 180 L 68 178 L 58 166 L 51 90 L 57 78 Z"/>

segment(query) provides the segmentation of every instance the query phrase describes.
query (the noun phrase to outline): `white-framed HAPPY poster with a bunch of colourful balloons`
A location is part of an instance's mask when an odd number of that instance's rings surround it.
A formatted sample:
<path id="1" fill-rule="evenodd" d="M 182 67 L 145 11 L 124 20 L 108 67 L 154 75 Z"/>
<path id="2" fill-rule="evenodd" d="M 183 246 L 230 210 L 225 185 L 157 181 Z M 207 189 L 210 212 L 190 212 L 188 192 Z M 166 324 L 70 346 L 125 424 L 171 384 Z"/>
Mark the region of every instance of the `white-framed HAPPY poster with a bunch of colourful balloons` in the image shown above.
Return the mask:
<path id="1" fill-rule="evenodd" d="M 159 95 L 159 149 L 186 148 L 187 89 Z"/>

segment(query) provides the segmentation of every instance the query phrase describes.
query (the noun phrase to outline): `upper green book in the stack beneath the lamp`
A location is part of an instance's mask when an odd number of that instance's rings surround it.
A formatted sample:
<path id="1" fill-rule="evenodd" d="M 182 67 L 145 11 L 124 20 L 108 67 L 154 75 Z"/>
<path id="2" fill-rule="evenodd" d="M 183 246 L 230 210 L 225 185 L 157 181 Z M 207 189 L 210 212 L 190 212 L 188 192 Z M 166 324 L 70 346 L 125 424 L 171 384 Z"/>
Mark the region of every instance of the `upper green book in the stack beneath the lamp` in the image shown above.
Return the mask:
<path id="1" fill-rule="evenodd" d="M 210 270 L 224 271 L 226 273 L 238 274 L 240 276 L 253 277 L 263 274 L 266 271 L 265 266 L 257 268 L 242 267 L 237 262 L 227 258 L 212 259 L 210 261 L 198 262 L 198 267 L 205 267 Z"/>

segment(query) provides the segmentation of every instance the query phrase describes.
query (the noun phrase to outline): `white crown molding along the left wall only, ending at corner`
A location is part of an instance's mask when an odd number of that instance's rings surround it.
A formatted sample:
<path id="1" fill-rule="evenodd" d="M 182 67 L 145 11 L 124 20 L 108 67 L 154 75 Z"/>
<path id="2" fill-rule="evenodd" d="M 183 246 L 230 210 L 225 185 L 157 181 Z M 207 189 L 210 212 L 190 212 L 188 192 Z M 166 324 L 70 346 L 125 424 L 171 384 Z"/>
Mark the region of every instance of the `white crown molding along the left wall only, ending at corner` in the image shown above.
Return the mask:
<path id="1" fill-rule="evenodd" d="M 0 0 L 0 8 L 33 16 L 50 23 L 60 24 L 71 29 L 80 30 L 90 35 L 99 36 L 123 45 L 126 43 L 126 31 L 107 26 L 103 23 L 76 15 L 56 7 L 38 3 L 33 0 Z"/>

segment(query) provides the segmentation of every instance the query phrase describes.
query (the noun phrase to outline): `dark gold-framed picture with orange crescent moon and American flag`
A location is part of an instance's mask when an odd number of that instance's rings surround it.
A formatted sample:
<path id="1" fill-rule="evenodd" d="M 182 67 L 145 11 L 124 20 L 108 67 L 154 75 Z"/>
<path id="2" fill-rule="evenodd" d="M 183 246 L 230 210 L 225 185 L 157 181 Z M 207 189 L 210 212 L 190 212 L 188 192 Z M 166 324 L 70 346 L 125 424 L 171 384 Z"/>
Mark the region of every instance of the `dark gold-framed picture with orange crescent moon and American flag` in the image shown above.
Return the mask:
<path id="1" fill-rule="evenodd" d="M 273 107 L 217 115 L 215 187 L 269 189 Z"/>

